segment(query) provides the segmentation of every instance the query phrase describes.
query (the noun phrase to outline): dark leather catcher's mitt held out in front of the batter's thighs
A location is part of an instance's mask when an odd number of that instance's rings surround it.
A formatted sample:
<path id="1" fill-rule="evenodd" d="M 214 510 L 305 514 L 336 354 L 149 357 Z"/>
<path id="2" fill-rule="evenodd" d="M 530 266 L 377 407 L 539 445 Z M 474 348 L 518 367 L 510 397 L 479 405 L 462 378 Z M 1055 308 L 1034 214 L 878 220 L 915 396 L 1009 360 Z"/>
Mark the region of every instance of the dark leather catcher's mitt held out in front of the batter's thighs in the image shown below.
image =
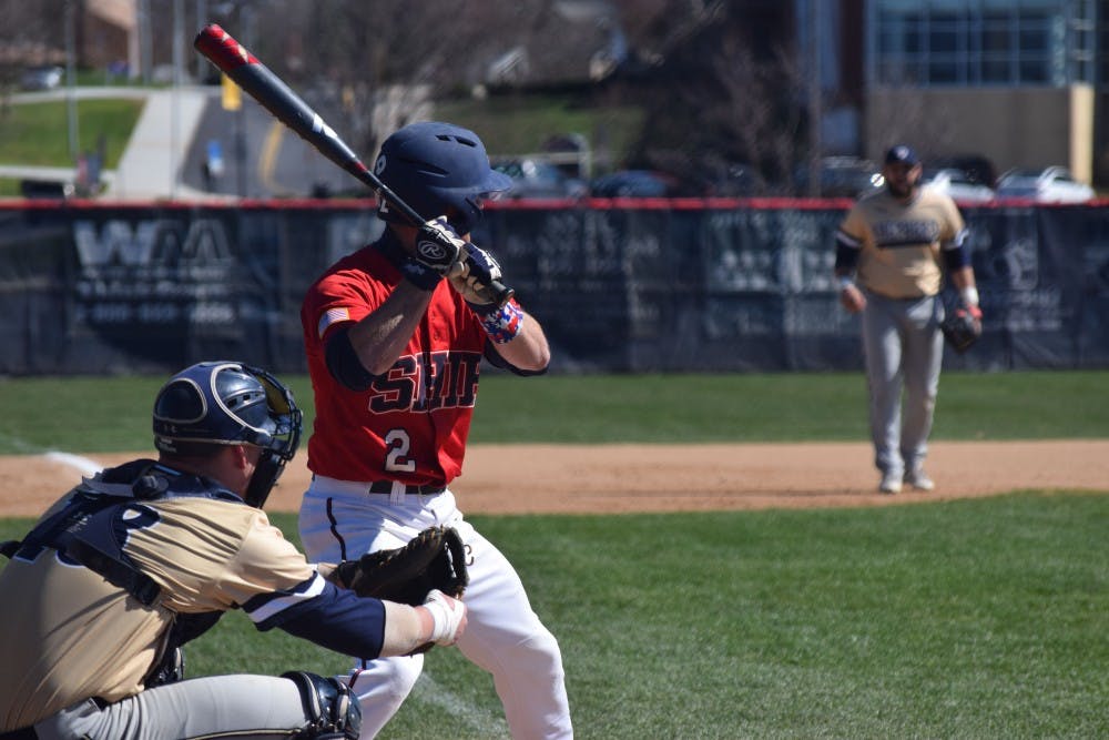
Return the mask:
<path id="1" fill-rule="evenodd" d="M 454 527 L 428 527 L 404 547 L 344 560 L 335 576 L 358 596 L 410 606 L 424 604 L 433 588 L 459 598 L 470 582 L 466 546 Z"/>

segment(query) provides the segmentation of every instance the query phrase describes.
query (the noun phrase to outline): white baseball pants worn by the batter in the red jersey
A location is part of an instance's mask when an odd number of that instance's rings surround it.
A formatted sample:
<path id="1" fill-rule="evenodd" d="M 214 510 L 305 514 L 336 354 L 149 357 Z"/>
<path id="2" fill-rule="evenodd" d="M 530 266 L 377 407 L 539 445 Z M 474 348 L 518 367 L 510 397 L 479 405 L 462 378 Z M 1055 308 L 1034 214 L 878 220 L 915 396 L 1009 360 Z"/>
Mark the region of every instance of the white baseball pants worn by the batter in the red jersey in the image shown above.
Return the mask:
<path id="1" fill-rule="evenodd" d="M 406 493 L 399 483 L 393 494 L 368 488 L 368 483 L 314 477 L 299 515 L 308 559 L 338 562 L 400 547 L 427 527 L 457 529 L 471 557 L 462 598 L 467 627 L 458 649 L 492 673 L 513 738 L 573 737 L 558 642 L 531 609 L 508 559 L 464 520 L 449 489 L 425 496 Z M 423 668 L 423 656 L 356 661 L 346 679 L 362 702 L 363 739 L 375 737 L 397 712 Z"/>

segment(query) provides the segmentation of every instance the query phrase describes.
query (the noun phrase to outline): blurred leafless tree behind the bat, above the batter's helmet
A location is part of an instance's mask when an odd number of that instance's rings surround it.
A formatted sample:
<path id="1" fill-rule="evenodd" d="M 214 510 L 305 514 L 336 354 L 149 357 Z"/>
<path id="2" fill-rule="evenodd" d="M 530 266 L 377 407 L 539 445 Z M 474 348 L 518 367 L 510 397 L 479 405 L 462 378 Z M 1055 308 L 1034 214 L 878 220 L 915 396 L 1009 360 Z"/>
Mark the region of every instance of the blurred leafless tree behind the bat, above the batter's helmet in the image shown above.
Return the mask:
<path id="1" fill-rule="evenodd" d="M 550 0 L 332 0 L 269 3 L 258 48 L 309 102 L 336 113 L 344 135 L 374 152 L 384 135 L 427 115 L 429 101 L 468 89 Z"/>

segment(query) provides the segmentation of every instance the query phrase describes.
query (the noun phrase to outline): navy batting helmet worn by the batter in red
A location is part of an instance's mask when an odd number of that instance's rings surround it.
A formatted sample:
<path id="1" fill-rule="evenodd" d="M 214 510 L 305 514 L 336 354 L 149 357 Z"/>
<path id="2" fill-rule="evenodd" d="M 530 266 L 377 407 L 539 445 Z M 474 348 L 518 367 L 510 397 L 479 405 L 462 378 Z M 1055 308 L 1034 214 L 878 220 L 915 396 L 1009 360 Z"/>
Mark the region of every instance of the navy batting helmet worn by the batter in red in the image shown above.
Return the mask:
<path id="1" fill-rule="evenodd" d="M 450 210 L 450 225 L 459 234 L 468 234 L 481 220 L 481 196 L 512 184 L 511 178 L 489 166 L 476 133 L 439 121 L 410 123 L 394 132 L 381 144 L 374 172 L 425 219 Z M 377 213 L 385 221 L 405 221 L 384 201 Z"/>

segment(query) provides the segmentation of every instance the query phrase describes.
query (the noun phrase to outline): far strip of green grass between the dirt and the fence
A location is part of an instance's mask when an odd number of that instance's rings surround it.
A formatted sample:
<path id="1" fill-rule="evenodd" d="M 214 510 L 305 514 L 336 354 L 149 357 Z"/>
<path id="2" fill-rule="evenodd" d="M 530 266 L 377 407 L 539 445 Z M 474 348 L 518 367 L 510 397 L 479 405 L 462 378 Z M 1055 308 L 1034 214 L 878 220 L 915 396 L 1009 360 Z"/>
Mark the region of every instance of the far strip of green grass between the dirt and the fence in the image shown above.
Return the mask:
<path id="1" fill-rule="evenodd" d="M 0 454 L 147 449 L 162 377 L 0 379 Z M 284 378 L 305 408 L 305 376 Z M 1109 372 L 945 373 L 936 439 L 1109 437 Z M 487 374 L 471 442 L 868 439 L 862 374 Z M 1109 487 L 1109 484 L 1107 484 Z"/>

